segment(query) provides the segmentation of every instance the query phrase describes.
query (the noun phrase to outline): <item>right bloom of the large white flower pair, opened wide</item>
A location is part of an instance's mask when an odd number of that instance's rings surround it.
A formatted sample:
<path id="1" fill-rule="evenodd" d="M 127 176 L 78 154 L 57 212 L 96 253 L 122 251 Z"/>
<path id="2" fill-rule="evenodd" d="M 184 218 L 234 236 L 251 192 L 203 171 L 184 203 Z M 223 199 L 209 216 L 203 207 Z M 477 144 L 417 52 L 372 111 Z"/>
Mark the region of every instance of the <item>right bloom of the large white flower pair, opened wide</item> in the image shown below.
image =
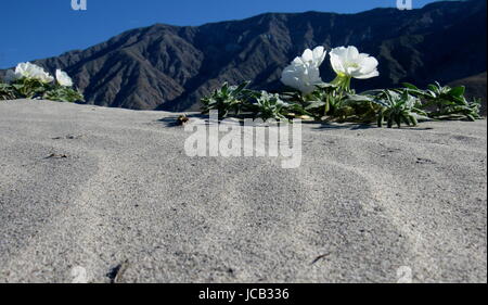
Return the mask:
<path id="1" fill-rule="evenodd" d="M 367 79 L 380 75 L 377 60 L 365 53 L 359 53 L 356 47 L 332 49 L 331 64 L 339 77 Z"/>

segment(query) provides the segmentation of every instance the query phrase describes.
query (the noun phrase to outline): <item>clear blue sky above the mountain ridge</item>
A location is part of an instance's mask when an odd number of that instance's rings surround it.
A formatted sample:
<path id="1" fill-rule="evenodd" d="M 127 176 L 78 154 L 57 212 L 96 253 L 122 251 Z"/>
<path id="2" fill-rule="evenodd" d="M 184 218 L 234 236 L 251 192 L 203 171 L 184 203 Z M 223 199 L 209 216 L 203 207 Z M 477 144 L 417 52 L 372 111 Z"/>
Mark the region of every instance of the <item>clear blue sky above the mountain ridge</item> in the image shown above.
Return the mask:
<path id="1" fill-rule="evenodd" d="M 413 0 L 420 8 L 434 0 Z M 1 0 L 0 68 L 85 49 L 124 30 L 155 23 L 201 25 L 264 12 L 355 13 L 396 7 L 396 0 Z"/>

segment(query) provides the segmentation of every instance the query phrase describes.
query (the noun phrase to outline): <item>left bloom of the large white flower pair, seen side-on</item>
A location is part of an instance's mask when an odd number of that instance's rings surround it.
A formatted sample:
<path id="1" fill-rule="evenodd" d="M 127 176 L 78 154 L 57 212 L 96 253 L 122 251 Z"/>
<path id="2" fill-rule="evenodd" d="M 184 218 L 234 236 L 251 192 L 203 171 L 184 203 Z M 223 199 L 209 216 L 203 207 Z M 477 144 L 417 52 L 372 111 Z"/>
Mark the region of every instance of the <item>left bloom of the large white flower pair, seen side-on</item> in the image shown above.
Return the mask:
<path id="1" fill-rule="evenodd" d="M 305 50 L 301 58 L 296 58 L 291 65 L 285 67 L 281 75 L 281 81 L 292 88 L 298 89 L 304 94 L 316 90 L 316 85 L 322 84 L 319 67 L 325 59 L 323 47 Z"/>

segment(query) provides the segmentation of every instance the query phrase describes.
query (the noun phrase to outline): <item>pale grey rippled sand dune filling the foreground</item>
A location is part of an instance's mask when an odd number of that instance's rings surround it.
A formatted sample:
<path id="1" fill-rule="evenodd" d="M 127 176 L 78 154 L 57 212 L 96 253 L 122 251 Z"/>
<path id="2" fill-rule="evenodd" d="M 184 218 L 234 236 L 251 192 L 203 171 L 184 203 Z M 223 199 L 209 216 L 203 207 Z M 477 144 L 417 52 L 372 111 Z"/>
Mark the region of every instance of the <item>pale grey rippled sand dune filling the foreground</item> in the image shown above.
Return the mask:
<path id="1" fill-rule="evenodd" d="M 0 102 L 0 282 L 487 281 L 486 120 L 308 124 L 282 169 L 165 117 Z"/>

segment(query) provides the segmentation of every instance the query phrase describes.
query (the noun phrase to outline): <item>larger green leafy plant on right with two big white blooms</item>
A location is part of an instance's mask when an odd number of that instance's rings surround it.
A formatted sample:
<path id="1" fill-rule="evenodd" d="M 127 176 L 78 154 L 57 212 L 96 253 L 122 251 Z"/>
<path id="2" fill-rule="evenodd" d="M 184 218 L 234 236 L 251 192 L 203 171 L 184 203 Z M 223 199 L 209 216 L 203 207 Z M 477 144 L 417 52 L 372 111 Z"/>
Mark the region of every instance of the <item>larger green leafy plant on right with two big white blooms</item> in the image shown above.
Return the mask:
<path id="1" fill-rule="evenodd" d="M 320 65 L 326 56 L 323 47 L 307 49 L 283 69 L 281 81 L 293 91 L 270 94 L 246 89 L 249 84 L 229 86 L 203 98 L 203 112 L 218 110 L 220 118 L 228 115 L 254 118 L 312 117 L 328 122 L 376 122 L 378 127 L 418 125 L 419 120 L 466 117 L 480 118 L 478 100 L 468 102 L 464 87 L 442 87 L 438 82 L 421 90 L 404 84 L 400 89 L 380 89 L 356 93 L 352 79 L 380 75 L 378 62 L 355 47 L 335 48 L 330 52 L 336 77 L 325 82 Z"/>

